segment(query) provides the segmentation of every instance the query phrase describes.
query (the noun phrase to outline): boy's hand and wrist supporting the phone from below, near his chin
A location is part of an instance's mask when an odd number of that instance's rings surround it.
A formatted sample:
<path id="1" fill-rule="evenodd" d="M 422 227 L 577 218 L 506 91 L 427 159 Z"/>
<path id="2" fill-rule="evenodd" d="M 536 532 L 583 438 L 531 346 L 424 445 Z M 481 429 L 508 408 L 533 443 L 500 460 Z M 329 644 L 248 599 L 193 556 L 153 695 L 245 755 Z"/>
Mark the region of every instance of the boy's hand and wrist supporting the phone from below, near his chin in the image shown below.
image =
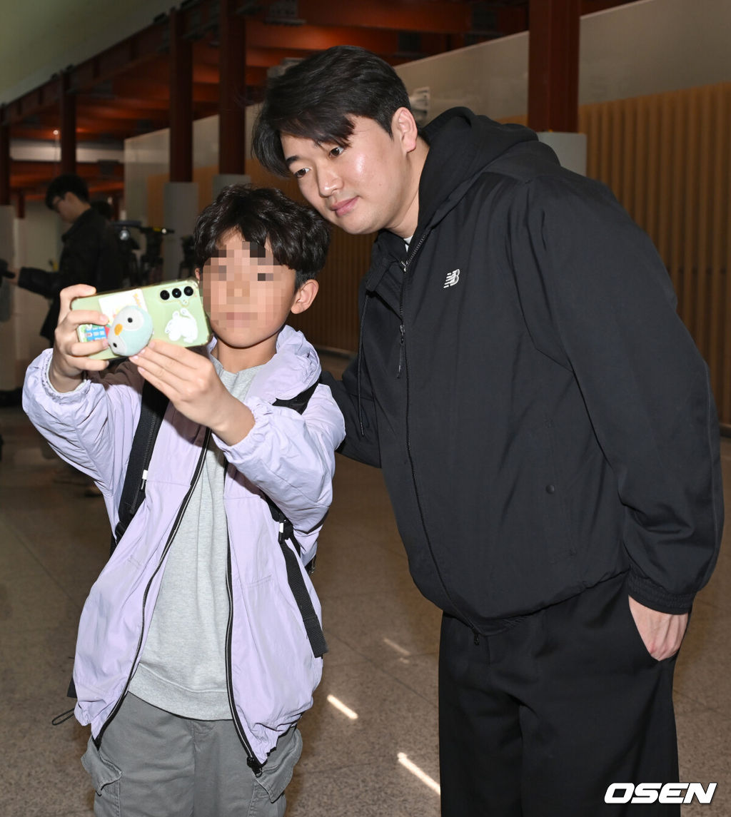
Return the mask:
<path id="1" fill-rule="evenodd" d="M 204 355 L 155 340 L 130 359 L 180 413 L 208 426 L 227 445 L 239 443 L 253 428 L 249 408 L 229 394 Z"/>

